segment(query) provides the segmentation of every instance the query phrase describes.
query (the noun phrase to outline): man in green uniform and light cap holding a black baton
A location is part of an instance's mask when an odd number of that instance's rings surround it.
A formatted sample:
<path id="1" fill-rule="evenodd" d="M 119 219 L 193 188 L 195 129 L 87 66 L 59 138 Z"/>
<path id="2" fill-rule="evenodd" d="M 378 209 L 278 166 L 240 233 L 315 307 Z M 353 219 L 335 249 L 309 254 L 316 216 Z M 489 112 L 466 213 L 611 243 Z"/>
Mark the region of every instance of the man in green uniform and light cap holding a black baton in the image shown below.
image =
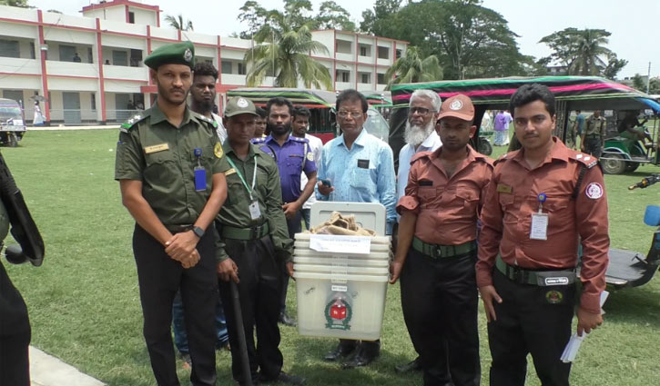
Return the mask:
<path id="1" fill-rule="evenodd" d="M 220 296 L 231 304 L 230 280 L 238 283 L 240 308 L 248 346 L 252 381 L 303 384 L 304 379 L 281 371 L 279 351 L 279 295 L 282 272 L 293 275 L 287 221 L 282 212 L 278 165 L 269 154 L 250 144 L 255 120 L 254 104 L 246 98 L 230 99 L 223 118 L 228 139 L 223 145 L 228 170 L 228 199 L 216 221 L 220 235 Z M 243 384 L 236 315 L 226 307 L 231 347 L 231 371 Z M 255 348 L 257 328 L 259 350 Z M 194 360 L 193 360 L 194 362 Z M 259 370 L 259 378 L 257 371 Z"/>

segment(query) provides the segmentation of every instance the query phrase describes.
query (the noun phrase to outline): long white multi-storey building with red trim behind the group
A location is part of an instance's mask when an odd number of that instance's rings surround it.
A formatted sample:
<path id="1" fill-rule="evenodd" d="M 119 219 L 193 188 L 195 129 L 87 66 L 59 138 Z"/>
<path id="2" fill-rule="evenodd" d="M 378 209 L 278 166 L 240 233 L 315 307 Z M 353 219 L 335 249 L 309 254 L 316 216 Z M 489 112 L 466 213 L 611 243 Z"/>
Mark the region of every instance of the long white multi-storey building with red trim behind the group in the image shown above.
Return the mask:
<path id="1" fill-rule="evenodd" d="M 83 16 L 0 5 L 0 97 L 21 100 L 32 117 L 35 95 L 49 123 L 121 122 L 130 104 L 148 108 L 156 85 L 143 59 L 160 45 L 190 40 L 197 60 L 218 68 L 218 104 L 245 85 L 249 40 L 160 27 L 160 9 L 130 0 L 88 5 Z M 329 54 L 314 56 L 336 90 L 383 90 L 385 72 L 407 42 L 336 30 L 314 31 Z M 267 77 L 264 86 L 273 84 Z M 302 85 L 300 85 L 302 86 Z"/>

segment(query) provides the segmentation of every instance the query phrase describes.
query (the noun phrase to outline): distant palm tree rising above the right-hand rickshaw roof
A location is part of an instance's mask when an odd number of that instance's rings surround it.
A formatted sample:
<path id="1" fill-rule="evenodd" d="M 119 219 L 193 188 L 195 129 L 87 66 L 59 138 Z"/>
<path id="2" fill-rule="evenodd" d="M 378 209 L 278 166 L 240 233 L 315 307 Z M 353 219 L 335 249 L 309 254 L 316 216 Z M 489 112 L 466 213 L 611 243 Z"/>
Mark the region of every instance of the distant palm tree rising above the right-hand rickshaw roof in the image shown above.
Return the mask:
<path id="1" fill-rule="evenodd" d="M 598 75 L 604 67 L 604 61 L 600 56 L 609 57 L 613 54 L 609 48 L 604 47 L 608 43 L 607 36 L 610 33 L 604 29 L 577 30 L 572 34 L 575 46 L 575 59 L 569 66 L 569 73 L 576 75 Z"/>

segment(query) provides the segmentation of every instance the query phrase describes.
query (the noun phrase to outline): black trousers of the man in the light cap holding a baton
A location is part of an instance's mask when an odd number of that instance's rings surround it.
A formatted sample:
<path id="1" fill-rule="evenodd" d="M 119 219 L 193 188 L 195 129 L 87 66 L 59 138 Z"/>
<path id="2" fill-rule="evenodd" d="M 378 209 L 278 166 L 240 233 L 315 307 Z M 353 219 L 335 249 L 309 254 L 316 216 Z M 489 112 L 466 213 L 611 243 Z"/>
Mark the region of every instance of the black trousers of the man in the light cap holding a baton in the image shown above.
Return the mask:
<path id="1" fill-rule="evenodd" d="M 282 368 L 283 358 L 279 351 L 279 294 L 282 285 L 283 263 L 275 258 L 270 236 L 259 240 L 240 241 L 225 239 L 229 257 L 239 267 L 239 299 L 243 313 L 243 330 L 248 346 L 249 368 L 252 379 L 275 379 Z M 236 381 L 243 382 L 241 372 L 238 328 L 231 289 L 228 282 L 219 282 L 220 296 L 225 307 L 229 346 L 231 347 L 231 373 Z M 257 328 L 257 344 L 254 330 Z"/>

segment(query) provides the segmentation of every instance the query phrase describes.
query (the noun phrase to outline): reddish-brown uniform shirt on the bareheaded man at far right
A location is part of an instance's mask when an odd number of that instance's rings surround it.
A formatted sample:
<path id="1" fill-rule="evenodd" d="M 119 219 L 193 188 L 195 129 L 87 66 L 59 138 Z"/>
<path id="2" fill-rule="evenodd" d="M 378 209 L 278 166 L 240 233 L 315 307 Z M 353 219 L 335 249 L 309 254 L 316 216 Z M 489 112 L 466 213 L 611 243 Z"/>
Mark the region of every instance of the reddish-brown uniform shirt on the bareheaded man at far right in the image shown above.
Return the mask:
<path id="1" fill-rule="evenodd" d="M 525 269 L 573 268 L 577 265 L 580 237 L 580 280 L 584 284 L 580 305 L 597 313 L 610 245 L 603 172 L 593 156 L 568 149 L 556 137 L 553 141 L 551 153 L 534 169 L 524 162 L 523 150 L 507 153 L 495 162 L 481 214 L 477 285 L 492 285 L 492 267 L 498 253 L 507 264 Z M 582 168 L 586 168 L 584 178 L 573 198 Z M 543 213 L 548 214 L 547 240 L 530 238 L 532 214 L 539 210 L 539 193 L 547 195 L 543 203 Z"/>

